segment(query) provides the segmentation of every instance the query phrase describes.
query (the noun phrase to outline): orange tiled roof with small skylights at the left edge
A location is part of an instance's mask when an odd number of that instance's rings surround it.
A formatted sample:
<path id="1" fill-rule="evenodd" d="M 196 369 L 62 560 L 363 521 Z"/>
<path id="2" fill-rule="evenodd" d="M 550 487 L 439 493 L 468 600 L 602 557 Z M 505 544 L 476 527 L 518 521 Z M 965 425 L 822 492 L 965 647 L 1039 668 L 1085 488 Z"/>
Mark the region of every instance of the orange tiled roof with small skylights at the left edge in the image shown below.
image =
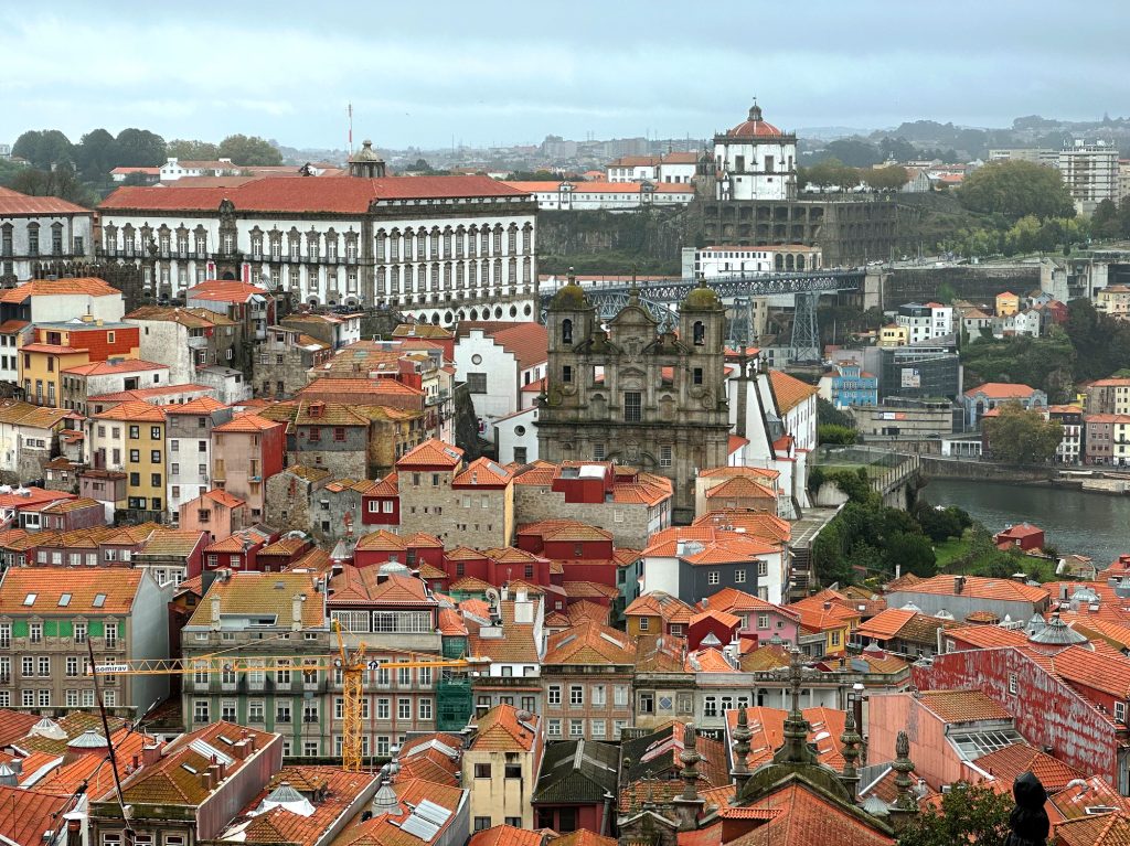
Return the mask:
<path id="1" fill-rule="evenodd" d="M 118 567 L 11 567 L 0 582 L 0 613 L 127 614 L 144 575 Z"/>

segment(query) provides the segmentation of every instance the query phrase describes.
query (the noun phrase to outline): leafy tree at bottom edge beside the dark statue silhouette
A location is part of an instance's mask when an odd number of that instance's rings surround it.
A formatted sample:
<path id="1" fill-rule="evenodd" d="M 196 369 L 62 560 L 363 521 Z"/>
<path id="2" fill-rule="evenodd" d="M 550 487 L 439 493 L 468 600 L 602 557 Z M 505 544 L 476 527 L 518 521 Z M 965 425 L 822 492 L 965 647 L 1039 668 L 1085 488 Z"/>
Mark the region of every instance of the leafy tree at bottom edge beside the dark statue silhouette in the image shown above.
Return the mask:
<path id="1" fill-rule="evenodd" d="M 958 782 L 941 795 L 941 808 L 922 808 L 898 835 L 898 846 L 1003 846 L 1012 812 L 1009 793 Z"/>

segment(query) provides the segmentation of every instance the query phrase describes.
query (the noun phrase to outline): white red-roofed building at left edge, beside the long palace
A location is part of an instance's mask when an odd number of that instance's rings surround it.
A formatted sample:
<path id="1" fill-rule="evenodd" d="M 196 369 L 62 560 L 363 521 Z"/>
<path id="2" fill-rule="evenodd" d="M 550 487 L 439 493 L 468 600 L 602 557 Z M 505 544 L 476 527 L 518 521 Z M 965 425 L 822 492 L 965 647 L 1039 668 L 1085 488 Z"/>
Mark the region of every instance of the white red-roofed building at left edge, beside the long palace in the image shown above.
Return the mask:
<path id="1" fill-rule="evenodd" d="M 94 247 L 90 209 L 0 187 L 0 277 L 25 281 L 36 262 L 89 261 Z"/>

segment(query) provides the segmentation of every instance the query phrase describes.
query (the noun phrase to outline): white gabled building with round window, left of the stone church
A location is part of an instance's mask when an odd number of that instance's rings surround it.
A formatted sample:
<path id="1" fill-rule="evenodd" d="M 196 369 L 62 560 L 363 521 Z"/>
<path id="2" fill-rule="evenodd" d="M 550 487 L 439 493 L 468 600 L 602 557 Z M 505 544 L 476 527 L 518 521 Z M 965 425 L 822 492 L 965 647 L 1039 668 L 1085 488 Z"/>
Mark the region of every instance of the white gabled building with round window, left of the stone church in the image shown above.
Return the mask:
<path id="1" fill-rule="evenodd" d="M 545 377 L 548 348 L 540 323 L 460 324 L 455 378 L 468 385 L 483 437 L 493 441 L 495 421 L 518 411 L 522 389 Z"/>

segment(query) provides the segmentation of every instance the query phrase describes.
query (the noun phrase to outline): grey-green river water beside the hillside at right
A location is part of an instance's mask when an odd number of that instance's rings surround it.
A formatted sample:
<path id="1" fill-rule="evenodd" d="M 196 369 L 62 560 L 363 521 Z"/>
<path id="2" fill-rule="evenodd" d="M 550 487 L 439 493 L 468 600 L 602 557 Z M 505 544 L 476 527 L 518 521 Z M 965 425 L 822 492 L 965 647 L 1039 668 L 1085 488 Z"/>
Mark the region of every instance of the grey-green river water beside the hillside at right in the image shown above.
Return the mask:
<path id="1" fill-rule="evenodd" d="M 964 508 L 991 532 L 1037 525 L 1060 555 L 1090 556 L 1098 568 L 1130 552 L 1130 496 L 955 479 L 931 479 L 922 492 L 931 505 Z"/>

